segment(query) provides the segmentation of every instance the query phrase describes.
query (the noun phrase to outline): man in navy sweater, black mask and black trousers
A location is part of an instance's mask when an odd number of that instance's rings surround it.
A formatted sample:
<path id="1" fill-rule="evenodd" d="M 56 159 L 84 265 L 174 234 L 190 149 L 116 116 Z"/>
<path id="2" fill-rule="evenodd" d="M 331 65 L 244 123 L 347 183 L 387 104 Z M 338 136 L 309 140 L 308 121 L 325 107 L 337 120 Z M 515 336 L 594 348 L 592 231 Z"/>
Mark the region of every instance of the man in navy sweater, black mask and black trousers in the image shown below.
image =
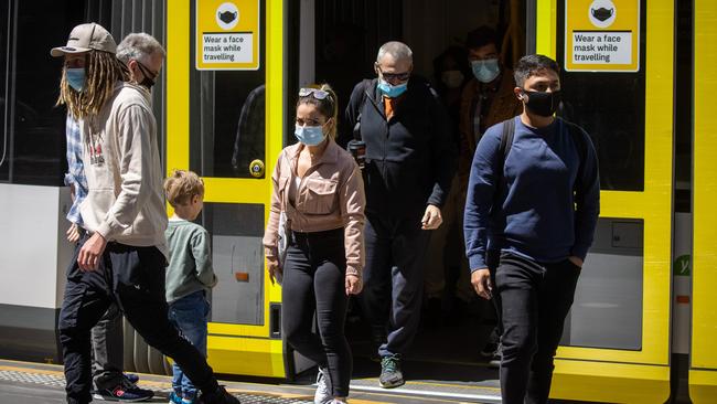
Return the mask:
<path id="1" fill-rule="evenodd" d="M 468 184 L 465 255 L 477 294 L 501 308 L 504 404 L 547 402 L 553 358 L 600 210 L 590 138 L 554 117 L 558 73 L 543 55 L 518 61 L 514 93 L 524 108 L 513 118 L 512 145 L 501 147 L 507 121 L 489 128 Z"/>

